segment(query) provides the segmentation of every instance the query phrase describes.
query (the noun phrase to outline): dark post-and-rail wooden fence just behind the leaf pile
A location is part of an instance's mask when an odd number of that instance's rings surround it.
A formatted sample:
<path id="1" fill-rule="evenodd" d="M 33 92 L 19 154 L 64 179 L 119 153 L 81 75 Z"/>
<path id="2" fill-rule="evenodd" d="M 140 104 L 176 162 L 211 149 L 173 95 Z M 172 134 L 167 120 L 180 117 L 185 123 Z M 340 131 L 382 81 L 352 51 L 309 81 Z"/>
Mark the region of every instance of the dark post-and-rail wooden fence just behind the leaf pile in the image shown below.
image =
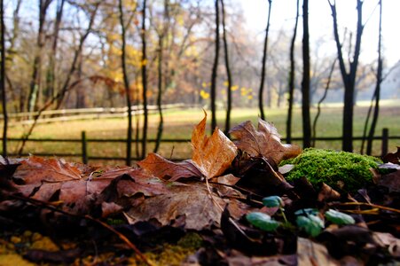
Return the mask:
<path id="1" fill-rule="evenodd" d="M 316 137 L 316 141 L 341 141 L 341 137 Z M 353 141 L 362 140 L 363 137 L 353 137 Z M 381 136 L 373 137 L 374 140 L 381 141 L 381 154 L 376 156 L 383 156 L 388 153 L 388 140 L 389 139 L 400 139 L 400 136 L 389 136 L 388 129 L 383 129 Z M 21 141 L 21 138 L 8 138 L 9 142 Z M 293 137 L 292 140 L 302 141 L 302 137 Z M 149 143 L 154 143 L 155 139 L 148 139 Z M 282 142 L 285 142 L 286 139 L 283 138 Z M 80 144 L 82 147 L 81 153 L 35 153 L 37 156 L 59 156 L 59 157 L 78 157 L 82 159 L 83 163 L 88 163 L 89 160 L 125 160 L 125 157 L 103 157 L 103 156 L 90 156 L 88 153 L 88 147 L 90 143 L 126 143 L 126 139 L 97 139 L 97 138 L 87 138 L 86 133 L 82 132 L 81 138 L 63 138 L 63 139 L 55 139 L 55 138 L 29 138 L 27 142 L 66 142 L 66 143 L 75 143 Z M 134 140 L 133 143 L 140 142 L 139 140 Z M 161 139 L 161 143 L 189 143 L 190 139 Z M 21 154 L 22 156 L 29 155 L 28 153 Z M 9 156 L 17 156 L 15 153 L 9 153 Z M 171 158 L 171 160 L 184 160 L 187 158 Z M 132 158 L 132 160 L 140 160 L 139 158 Z"/>

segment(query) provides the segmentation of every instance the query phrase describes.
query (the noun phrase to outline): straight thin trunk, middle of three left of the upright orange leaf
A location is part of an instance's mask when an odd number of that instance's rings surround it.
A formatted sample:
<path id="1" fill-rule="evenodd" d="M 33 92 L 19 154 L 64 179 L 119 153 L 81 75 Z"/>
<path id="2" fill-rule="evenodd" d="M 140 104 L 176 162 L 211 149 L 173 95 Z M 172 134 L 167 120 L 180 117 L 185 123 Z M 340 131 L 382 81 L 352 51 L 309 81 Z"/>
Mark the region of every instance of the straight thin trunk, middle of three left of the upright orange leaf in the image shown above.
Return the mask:
<path id="1" fill-rule="evenodd" d="M 148 123 L 148 113 L 147 113 L 147 54 L 146 54 L 146 39 L 145 39 L 145 15 L 146 10 L 146 0 L 143 0 L 143 18 L 142 18 L 142 86 L 143 86 L 143 133 L 142 133 L 142 154 L 141 158 L 144 159 L 146 155 L 146 144 L 147 144 L 147 123 Z"/>

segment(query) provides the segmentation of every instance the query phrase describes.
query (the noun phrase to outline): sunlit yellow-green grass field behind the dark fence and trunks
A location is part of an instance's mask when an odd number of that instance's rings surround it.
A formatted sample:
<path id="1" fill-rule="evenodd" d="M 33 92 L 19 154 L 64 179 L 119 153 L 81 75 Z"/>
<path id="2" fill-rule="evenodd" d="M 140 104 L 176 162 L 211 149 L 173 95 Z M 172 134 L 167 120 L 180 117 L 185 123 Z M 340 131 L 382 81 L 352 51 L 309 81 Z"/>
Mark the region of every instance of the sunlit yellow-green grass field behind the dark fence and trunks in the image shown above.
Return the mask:
<path id="1" fill-rule="evenodd" d="M 318 120 L 317 137 L 340 137 L 341 136 L 341 116 L 342 108 L 338 106 L 325 106 Z M 362 135 L 366 106 L 357 106 L 354 118 L 354 136 Z M 232 111 L 231 127 L 242 121 L 257 121 L 256 109 L 235 109 Z M 316 109 L 312 110 L 314 118 Z M 190 139 L 193 127 L 203 118 L 203 111 L 200 109 L 188 109 L 165 112 L 163 138 L 184 138 Z M 217 121 L 221 129 L 224 129 L 224 111 L 217 113 Z M 208 113 L 208 118 L 210 114 Z M 267 121 L 275 124 L 278 132 L 285 137 L 286 135 L 286 108 L 266 109 Z M 149 138 L 155 138 L 158 127 L 158 115 L 153 114 L 149 118 Z M 209 119 L 208 119 L 209 121 Z M 85 120 L 85 121 L 62 121 L 50 124 L 39 124 L 36 126 L 33 135 L 34 138 L 75 138 L 81 137 L 82 130 L 86 131 L 88 138 L 125 138 L 127 119 L 103 119 L 103 120 Z M 390 136 L 400 136 L 400 106 L 382 106 L 380 109 L 380 120 L 376 129 L 376 135 L 381 135 L 383 128 L 389 129 Z M 21 137 L 26 132 L 27 126 L 12 127 L 9 129 L 8 137 Z M 302 119 L 301 110 L 294 109 L 293 137 L 302 137 Z M 15 153 L 17 142 L 9 142 L 9 152 Z M 302 145 L 299 143 L 299 145 Z M 360 150 L 360 141 L 355 141 L 355 152 Z M 374 141 L 373 154 L 380 154 L 380 141 Z M 396 150 L 396 145 L 400 145 L 400 140 L 391 140 L 389 149 Z M 318 141 L 318 148 L 341 149 L 341 142 Z M 120 156 L 125 155 L 125 145 L 122 143 L 89 143 L 88 151 L 90 156 Z M 136 154 L 135 145 L 132 147 L 133 154 Z M 153 152 L 153 144 L 148 145 L 148 152 Z M 51 142 L 38 143 L 28 142 L 24 153 L 81 153 L 79 143 Z M 190 143 L 163 143 L 159 153 L 169 158 L 190 158 L 192 147 Z M 68 160 L 80 161 L 79 157 L 67 158 Z M 123 164 L 123 161 L 90 161 L 90 164 Z"/>

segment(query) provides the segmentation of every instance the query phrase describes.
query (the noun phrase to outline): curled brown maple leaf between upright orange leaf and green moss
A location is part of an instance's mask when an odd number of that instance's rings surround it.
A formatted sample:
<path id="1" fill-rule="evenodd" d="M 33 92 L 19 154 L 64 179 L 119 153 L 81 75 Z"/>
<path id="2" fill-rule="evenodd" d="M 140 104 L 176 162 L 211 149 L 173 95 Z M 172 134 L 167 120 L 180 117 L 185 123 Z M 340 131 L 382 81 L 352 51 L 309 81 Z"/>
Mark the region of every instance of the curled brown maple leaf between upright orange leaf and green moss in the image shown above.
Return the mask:
<path id="1" fill-rule="evenodd" d="M 281 160 L 302 153 L 302 149 L 297 145 L 282 144 L 278 130 L 262 119 L 258 120 L 258 129 L 255 129 L 251 121 L 245 121 L 231 129 L 230 134 L 237 138 L 235 144 L 241 151 L 253 157 L 263 156 L 276 165 Z"/>

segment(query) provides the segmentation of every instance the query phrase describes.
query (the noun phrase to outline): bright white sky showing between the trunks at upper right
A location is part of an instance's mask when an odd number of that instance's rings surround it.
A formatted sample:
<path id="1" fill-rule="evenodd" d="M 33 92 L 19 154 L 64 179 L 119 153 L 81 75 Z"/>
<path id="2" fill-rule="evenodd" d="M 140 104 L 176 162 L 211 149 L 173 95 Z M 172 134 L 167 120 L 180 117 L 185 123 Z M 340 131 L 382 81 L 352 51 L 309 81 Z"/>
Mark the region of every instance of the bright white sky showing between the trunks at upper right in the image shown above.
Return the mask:
<path id="1" fill-rule="evenodd" d="M 236 0 L 243 8 L 247 27 L 256 38 L 263 40 L 264 30 L 267 23 L 268 0 Z M 362 53 L 360 58 L 365 63 L 372 62 L 378 57 L 378 22 L 379 7 L 378 0 L 364 1 L 364 35 L 362 39 Z M 338 23 L 341 32 L 344 27 L 356 32 L 357 11 L 356 0 L 336 0 L 338 8 Z M 271 6 L 271 33 L 278 32 L 281 28 L 293 31 L 295 18 L 296 0 L 272 0 Z M 333 20 L 331 9 L 327 0 L 310 0 L 310 39 L 318 40 L 321 36 L 333 38 Z M 385 60 L 388 66 L 393 66 L 400 59 L 400 0 L 382 0 L 382 44 L 385 53 Z M 300 1 L 300 14 L 302 15 L 302 1 Z M 302 20 L 299 20 L 299 27 L 302 27 Z M 299 32 L 298 42 L 301 42 L 302 33 Z M 312 49 L 313 47 L 311 47 Z M 334 43 L 325 45 L 326 52 L 335 52 Z"/>

